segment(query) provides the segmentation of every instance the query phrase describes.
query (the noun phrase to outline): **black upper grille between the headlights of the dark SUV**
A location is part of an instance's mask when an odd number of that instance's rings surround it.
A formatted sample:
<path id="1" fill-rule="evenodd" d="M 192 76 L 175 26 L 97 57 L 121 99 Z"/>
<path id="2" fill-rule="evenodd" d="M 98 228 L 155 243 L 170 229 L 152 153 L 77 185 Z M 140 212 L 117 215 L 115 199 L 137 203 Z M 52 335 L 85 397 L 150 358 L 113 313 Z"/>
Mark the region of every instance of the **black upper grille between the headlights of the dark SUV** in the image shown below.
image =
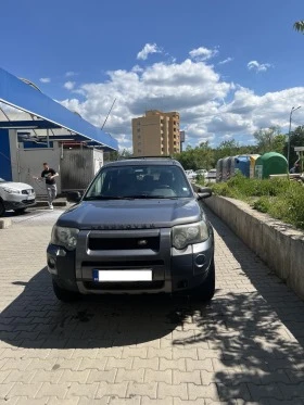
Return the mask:
<path id="1" fill-rule="evenodd" d="M 160 250 L 160 237 L 141 238 L 89 238 L 88 248 L 91 251 L 127 251 L 151 249 Z"/>

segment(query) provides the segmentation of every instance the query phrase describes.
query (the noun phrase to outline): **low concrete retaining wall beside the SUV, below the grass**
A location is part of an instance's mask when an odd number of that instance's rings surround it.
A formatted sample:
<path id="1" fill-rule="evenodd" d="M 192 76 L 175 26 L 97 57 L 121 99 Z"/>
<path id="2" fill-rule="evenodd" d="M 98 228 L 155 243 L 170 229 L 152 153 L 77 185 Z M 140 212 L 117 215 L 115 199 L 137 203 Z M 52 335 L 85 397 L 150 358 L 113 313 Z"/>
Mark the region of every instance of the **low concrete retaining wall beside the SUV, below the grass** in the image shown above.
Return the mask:
<path id="1" fill-rule="evenodd" d="M 304 299 L 304 232 L 239 200 L 212 195 L 204 203 Z"/>

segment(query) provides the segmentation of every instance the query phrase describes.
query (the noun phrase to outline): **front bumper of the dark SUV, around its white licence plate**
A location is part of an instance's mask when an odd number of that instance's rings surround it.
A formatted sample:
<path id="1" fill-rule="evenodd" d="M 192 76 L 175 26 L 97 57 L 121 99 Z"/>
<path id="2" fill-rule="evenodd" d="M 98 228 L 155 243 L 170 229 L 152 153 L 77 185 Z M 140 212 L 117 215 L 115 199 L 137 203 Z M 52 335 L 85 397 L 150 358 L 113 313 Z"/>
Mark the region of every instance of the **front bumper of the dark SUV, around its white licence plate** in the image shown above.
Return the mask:
<path id="1" fill-rule="evenodd" d="M 115 250 L 115 238 L 159 237 L 159 249 Z M 113 238 L 107 250 L 91 250 L 90 238 Z M 109 246 L 107 246 L 109 248 Z M 59 286 L 83 294 L 175 293 L 200 286 L 207 276 L 214 256 L 214 239 L 185 250 L 172 248 L 170 229 L 135 231 L 80 231 L 73 252 L 49 244 L 48 269 Z M 152 270 L 152 281 L 98 282 L 93 270 Z"/>

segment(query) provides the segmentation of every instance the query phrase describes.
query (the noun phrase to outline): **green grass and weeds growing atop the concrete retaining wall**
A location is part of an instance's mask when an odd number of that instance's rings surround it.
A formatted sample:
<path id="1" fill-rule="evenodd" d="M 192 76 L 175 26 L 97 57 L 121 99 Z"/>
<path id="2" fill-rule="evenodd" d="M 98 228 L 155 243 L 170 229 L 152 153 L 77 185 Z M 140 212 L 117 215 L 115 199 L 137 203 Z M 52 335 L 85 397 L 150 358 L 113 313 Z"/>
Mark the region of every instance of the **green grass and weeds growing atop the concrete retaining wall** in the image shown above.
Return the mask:
<path id="1" fill-rule="evenodd" d="M 241 175 L 210 185 L 214 194 L 248 202 L 273 218 L 304 229 L 304 187 L 289 179 L 250 179 Z"/>

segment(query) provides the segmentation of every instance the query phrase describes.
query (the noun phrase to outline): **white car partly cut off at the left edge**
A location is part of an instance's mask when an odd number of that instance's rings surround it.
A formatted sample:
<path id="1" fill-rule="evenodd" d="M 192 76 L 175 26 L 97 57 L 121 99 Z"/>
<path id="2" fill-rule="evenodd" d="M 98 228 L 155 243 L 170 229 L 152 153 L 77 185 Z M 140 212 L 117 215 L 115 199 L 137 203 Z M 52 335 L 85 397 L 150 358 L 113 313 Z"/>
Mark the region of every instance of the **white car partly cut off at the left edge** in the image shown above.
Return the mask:
<path id="1" fill-rule="evenodd" d="M 36 204 L 34 188 L 25 182 L 5 181 L 0 177 L 0 216 L 13 210 L 23 213 L 28 206 Z"/>

